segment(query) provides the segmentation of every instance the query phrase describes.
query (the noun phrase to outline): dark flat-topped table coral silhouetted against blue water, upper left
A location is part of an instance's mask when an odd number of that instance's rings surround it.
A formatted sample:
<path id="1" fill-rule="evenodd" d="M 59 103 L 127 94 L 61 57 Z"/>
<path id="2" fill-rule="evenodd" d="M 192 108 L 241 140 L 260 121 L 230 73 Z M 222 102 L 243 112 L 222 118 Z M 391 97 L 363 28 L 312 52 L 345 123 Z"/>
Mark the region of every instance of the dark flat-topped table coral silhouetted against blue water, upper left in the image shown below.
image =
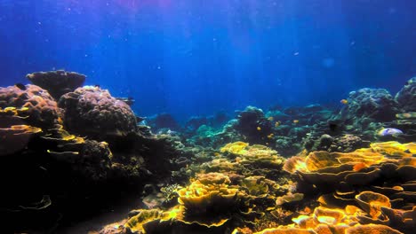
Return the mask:
<path id="1" fill-rule="evenodd" d="M 27 74 L 26 77 L 33 84 L 48 90 L 55 100 L 59 100 L 60 96 L 65 93 L 72 92 L 76 88 L 83 86 L 86 76 L 84 74 L 58 70 Z"/>

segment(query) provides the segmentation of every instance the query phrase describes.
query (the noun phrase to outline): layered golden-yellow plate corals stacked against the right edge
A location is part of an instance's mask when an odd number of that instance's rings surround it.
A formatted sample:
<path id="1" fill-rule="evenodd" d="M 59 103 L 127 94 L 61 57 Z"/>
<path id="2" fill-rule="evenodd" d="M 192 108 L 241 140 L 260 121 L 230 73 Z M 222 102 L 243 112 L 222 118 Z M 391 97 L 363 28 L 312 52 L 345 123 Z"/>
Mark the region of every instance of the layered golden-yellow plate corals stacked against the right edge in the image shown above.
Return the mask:
<path id="1" fill-rule="evenodd" d="M 412 175 L 416 171 L 412 162 L 414 152 L 412 143 L 374 143 L 370 148 L 349 153 L 311 152 L 306 158 L 288 160 L 284 169 L 300 175 L 298 191 L 309 196 L 324 193 L 318 199 L 323 207 L 346 210 L 351 206 L 361 207 L 362 210 L 354 209 L 359 211 L 354 214 L 354 222 L 363 228 L 367 224 L 383 224 L 392 233 L 410 233 L 415 208 L 410 198 L 414 191 L 409 187 L 404 189 L 402 184 L 415 179 Z M 408 224 L 397 213 L 405 213 Z"/>

